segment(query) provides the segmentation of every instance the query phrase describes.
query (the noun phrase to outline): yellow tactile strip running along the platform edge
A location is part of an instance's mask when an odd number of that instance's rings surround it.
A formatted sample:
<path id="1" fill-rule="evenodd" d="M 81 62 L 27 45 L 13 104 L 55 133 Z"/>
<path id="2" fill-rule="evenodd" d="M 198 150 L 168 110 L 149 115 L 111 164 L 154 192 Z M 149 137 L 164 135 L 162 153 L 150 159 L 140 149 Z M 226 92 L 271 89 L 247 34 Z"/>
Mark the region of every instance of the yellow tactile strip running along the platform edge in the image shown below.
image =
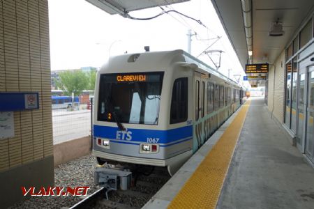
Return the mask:
<path id="1" fill-rule="evenodd" d="M 216 208 L 234 147 L 251 100 L 248 100 L 168 208 Z"/>

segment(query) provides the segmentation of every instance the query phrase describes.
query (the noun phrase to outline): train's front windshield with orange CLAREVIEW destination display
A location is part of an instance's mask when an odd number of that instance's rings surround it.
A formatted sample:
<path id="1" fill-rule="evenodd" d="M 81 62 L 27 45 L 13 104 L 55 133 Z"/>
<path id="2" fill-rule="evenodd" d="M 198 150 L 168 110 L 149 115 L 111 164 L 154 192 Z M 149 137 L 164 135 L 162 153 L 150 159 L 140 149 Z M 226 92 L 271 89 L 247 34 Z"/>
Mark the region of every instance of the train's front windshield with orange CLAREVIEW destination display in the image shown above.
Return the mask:
<path id="1" fill-rule="evenodd" d="M 158 125 L 163 72 L 100 75 L 98 121 Z"/>

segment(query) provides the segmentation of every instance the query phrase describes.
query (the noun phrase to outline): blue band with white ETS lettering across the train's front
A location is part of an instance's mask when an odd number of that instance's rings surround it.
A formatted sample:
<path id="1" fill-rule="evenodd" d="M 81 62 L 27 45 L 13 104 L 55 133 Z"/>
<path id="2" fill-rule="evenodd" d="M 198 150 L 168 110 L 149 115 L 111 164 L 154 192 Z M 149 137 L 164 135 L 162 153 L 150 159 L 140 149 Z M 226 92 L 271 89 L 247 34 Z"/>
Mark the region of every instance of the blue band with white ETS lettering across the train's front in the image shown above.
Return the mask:
<path id="1" fill-rule="evenodd" d="M 94 125 L 94 137 L 102 137 L 107 139 L 117 139 L 118 127 Z M 124 141 L 132 142 L 147 142 L 147 138 L 159 139 L 158 144 L 167 144 L 170 142 L 179 141 L 181 139 L 186 139 L 192 137 L 193 135 L 193 126 L 188 125 L 185 127 L 179 127 L 172 130 L 146 130 L 146 129 L 131 129 L 127 130 L 132 132 L 130 136 L 132 139 Z M 121 134 L 119 134 L 121 137 Z"/>

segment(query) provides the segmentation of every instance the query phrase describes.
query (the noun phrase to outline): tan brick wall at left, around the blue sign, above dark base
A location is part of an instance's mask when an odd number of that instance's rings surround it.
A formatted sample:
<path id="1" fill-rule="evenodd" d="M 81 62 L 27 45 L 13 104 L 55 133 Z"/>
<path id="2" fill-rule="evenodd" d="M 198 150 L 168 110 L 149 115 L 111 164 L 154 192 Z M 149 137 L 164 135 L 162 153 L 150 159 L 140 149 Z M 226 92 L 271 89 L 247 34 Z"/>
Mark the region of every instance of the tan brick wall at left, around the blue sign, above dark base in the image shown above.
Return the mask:
<path id="1" fill-rule="evenodd" d="M 15 111 L 15 137 L 0 139 L 0 172 L 53 155 L 47 0 L 0 0 L 0 92 L 39 93 Z"/>

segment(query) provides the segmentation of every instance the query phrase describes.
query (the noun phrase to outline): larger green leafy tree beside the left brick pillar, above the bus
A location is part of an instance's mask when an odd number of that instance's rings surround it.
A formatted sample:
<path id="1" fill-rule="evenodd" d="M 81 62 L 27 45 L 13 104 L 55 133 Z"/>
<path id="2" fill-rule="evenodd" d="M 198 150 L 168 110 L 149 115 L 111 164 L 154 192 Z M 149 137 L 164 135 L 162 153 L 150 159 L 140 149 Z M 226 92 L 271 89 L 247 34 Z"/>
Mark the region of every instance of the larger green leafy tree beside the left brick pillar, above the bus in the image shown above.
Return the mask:
<path id="1" fill-rule="evenodd" d="M 54 79 L 54 82 L 65 95 L 74 93 L 75 96 L 78 96 L 89 87 L 89 77 L 81 70 L 60 72 L 59 79 Z"/>

